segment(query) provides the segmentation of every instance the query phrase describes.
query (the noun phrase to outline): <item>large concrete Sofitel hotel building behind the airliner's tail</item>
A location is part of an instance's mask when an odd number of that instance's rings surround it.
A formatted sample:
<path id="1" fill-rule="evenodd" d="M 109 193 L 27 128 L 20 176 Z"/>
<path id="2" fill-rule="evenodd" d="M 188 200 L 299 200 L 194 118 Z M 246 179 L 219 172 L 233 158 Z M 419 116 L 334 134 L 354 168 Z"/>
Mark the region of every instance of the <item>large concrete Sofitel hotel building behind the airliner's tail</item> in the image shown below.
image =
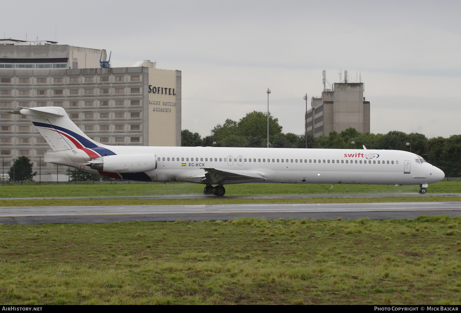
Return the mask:
<path id="1" fill-rule="evenodd" d="M 52 150 L 30 120 L 8 113 L 17 106 L 64 107 L 85 134 L 103 144 L 181 145 L 181 71 L 156 69 L 150 61 L 101 68 L 105 50 L 19 43 L 0 41 L 0 171 L 9 170 L 14 156 L 25 155 L 42 181 L 67 180 L 67 167 L 43 162 Z"/>

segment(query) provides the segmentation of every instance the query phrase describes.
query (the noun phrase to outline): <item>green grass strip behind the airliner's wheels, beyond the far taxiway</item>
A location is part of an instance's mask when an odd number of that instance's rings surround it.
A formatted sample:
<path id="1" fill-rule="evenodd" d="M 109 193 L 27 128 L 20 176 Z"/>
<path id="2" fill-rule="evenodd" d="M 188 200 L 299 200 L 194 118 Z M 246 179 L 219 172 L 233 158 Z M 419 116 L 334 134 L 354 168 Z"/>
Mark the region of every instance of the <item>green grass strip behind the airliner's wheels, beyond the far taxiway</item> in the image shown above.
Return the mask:
<path id="1" fill-rule="evenodd" d="M 43 184 L 0 185 L 0 198 L 28 197 L 97 197 L 149 195 L 203 195 L 201 184 L 193 183 L 112 183 L 112 184 Z M 419 186 L 336 184 L 236 184 L 226 185 L 226 195 L 335 195 L 417 193 Z M 461 193 L 461 182 L 429 185 L 428 193 Z"/>

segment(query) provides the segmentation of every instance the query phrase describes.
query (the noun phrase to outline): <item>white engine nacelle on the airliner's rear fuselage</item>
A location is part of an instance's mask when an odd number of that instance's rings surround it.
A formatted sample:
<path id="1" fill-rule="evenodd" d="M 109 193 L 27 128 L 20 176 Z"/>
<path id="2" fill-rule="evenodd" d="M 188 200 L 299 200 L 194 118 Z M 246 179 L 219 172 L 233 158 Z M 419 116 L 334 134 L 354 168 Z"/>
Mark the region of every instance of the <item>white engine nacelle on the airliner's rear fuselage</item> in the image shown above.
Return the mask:
<path id="1" fill-rule="evenodd" d="M 112 173 L 136 173 L 153 171 L 157 168 L 155 154 L 108 155 L 88 161 L 97 171 Z"/>

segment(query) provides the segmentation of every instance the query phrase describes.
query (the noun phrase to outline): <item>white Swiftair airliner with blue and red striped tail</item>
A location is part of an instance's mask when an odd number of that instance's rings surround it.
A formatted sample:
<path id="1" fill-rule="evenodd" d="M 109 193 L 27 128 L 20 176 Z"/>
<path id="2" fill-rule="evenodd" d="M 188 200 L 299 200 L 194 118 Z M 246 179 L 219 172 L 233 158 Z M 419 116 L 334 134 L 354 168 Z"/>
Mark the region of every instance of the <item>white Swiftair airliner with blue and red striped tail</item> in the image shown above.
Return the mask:
<path id="1" fill-rule="evenodd" d="M 125 180 L 202 183 L 205 195 L 222 196 L 234 183 L 420 185 L 426 193 L 444 177 L 400 150 L 108 146 L 86 136 L 61 107 L 20 108 L 53 149 L 45 162 Z"/>

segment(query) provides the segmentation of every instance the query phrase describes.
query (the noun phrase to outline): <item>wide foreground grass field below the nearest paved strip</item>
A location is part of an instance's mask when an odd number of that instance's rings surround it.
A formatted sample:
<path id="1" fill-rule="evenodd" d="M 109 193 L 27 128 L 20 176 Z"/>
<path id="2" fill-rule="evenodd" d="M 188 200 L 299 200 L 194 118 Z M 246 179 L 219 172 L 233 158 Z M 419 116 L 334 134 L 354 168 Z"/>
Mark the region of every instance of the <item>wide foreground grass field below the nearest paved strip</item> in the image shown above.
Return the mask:
<path id="1" fill-rule="evenodd" d="M 460 304 L 461 217 L 0 225 L 2 304 Z"/>

